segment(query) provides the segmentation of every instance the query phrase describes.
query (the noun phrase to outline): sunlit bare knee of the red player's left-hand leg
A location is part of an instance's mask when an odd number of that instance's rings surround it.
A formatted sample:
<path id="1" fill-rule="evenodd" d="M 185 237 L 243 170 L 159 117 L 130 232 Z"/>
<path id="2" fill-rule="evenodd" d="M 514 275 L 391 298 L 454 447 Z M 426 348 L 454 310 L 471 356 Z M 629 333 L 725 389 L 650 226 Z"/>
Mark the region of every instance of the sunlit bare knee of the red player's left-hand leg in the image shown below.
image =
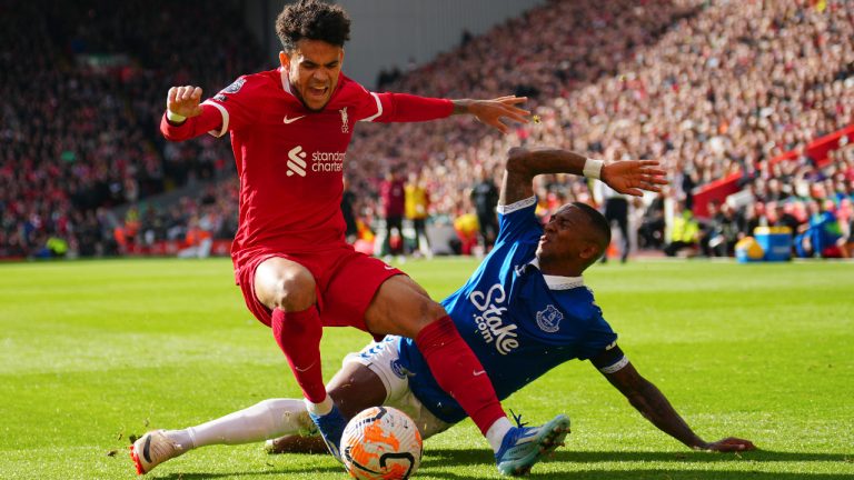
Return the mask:
<path id="1" fill-rule="evenodd" d="M 284 262 L 265 262 L 258 267 L 255 276 L 258 300 L 270 310 L 284 311 L 302 311 L 315 304 L 317 294 L 311 272 L 298 263 Z"/>

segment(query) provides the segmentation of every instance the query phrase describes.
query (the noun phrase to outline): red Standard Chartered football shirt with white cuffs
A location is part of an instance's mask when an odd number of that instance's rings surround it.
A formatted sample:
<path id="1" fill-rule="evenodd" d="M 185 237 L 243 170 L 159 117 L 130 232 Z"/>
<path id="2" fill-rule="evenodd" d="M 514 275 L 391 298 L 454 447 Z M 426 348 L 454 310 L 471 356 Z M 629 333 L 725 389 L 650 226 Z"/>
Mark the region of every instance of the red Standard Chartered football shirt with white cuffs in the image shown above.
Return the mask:
<path id="1" fill-rule="evenodd" d="M 356 121 L 425 121 L 453 109 L 450 100 L 369 92 L 341 74 L 326 108 L 311 112 L 279 68 L 240 77 L 180 126 L 163 116 L 160 129 L 169 140 L 231 133 L 240 177 L 231 257 L 240 267 L 256 252 L 316 252 L 345 241 L 342 172 Z"/>

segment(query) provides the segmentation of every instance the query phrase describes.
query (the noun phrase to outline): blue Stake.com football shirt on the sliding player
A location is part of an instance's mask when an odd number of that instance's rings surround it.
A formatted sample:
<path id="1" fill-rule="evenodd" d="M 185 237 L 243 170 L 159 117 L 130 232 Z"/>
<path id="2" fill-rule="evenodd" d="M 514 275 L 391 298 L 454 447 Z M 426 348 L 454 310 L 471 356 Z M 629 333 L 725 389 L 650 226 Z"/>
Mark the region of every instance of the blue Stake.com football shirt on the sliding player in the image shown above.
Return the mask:
<path id="1" fill-rule="evenodd" d="M 495 247 L 466 284 L 441 302 L 502 400 L 567 360 L 595 357 L 617 339 L 580 277 L 539 271 L 535 252 L 543 227 L 535 208 L 534 197 L 498 208 Z M 399 371 L 408 374 L 415 396 L 446 422 L 466 418 L 436 383 L 415 341 L 399 342 Z"/>

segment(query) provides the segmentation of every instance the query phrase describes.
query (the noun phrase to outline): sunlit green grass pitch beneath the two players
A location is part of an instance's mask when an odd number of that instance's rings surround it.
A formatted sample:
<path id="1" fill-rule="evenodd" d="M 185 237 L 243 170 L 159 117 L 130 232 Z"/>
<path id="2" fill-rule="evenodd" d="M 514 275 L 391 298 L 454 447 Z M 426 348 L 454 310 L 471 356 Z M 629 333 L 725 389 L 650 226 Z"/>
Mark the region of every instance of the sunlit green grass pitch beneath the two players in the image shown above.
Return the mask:
<path id="1" fill-rule="evenodd" d="M 435 298 L 474 260 L 403 266 Z M 573 432 L 532 478 L 854 478 L 854 264 L 703 261 L 596 266 L 587 274 L 637 369 L 707 440 L 693 452 L 644 420 L 589 363 L 505 401 L 526 421 L 567 413 Z M 328 379 L 368 337 L 328 329 Z M 227 259 L 0 264 L 0 478 L 131 479 L 128 438 L 270 397 L 298 397 Z M 342 479 L 330 457 L 260 444 L 200 449 L 161 479 Z M 499 478 L 470 421 L 425 443 L 424 479 Z"/>

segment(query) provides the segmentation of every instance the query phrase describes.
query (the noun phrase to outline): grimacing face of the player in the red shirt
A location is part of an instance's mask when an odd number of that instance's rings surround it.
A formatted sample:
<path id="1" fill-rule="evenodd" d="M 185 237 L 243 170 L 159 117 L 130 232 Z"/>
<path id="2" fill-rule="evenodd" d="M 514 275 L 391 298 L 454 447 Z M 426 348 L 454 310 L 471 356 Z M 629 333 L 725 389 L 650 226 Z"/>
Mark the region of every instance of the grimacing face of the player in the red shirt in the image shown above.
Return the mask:
<path id="1" fill-rule="evenodd" d="M 322 40 L 302 39 L 290 52 L 280 52 L 294 93 L 311 111 L 329 103 L 341 73 L 344 49 Z"/>

